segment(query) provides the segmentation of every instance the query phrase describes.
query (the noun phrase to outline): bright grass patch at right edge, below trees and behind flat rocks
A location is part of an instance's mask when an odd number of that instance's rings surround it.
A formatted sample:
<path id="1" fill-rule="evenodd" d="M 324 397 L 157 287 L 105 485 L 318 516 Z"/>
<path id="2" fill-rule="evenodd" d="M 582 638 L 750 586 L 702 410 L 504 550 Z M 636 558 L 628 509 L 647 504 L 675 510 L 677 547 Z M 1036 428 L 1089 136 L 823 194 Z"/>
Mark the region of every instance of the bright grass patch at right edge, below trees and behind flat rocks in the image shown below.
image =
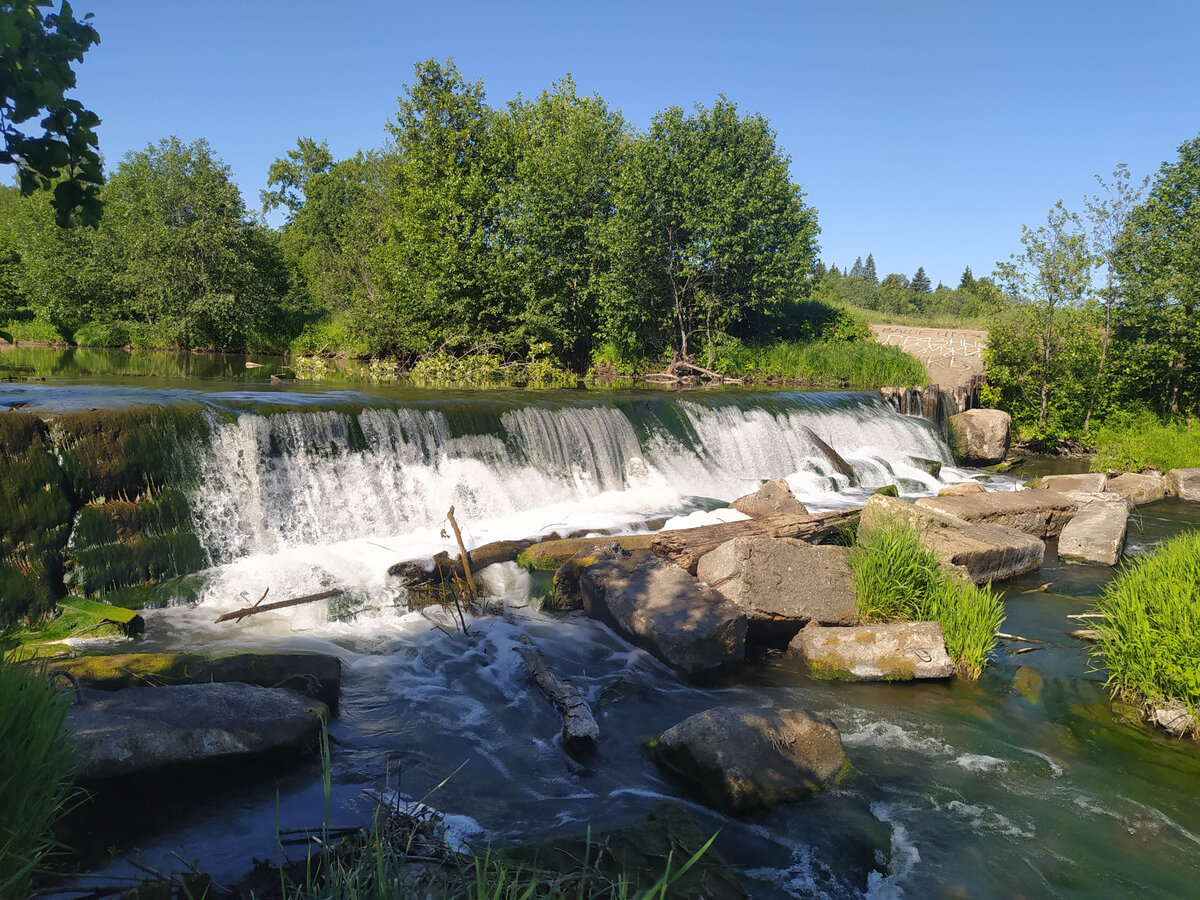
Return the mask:
<path id="1" fill-rule="evenodd" d="M 1094 432 L 1093 472 L 1200 467 L 1200 422 L 1162 421 L 1151 413 L 1112 418 Z"/>

